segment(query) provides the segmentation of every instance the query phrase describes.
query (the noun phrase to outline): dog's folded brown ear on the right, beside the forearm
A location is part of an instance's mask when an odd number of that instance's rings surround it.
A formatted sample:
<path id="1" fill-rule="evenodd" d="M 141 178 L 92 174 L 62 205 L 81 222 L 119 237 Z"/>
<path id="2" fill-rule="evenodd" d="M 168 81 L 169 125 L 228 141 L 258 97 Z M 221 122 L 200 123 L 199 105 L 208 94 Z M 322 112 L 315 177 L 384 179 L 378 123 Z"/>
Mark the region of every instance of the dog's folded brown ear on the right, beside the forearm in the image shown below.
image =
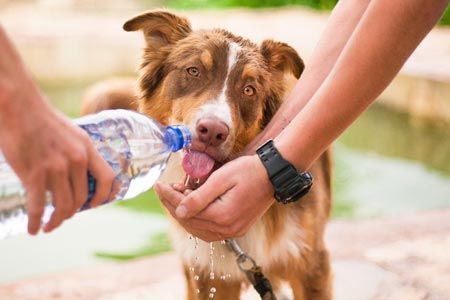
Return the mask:
<path id="1" fill-rule="evenodd" d="M 281 72 L 291 72 L 296 78 L 300 78 L 305 65 L 294 48 L 285 43 L 265 40 L 260 51 L 269 66 Z"/>

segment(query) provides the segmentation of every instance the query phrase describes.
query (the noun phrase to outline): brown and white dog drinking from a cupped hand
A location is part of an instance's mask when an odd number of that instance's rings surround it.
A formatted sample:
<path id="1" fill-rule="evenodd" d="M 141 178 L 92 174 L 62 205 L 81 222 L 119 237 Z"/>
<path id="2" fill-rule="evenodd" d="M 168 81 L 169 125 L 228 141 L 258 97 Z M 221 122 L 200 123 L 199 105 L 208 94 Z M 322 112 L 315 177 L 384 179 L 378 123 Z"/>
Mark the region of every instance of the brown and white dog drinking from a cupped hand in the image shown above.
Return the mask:
<path id="1" fill-rule="evenodd" d="M 265 40 L 258 46 L 225 30 L 193 31 L 187 19 L 165 11 L 143 13 L 127 21 L 124 29 L 141 30 L 146 40 L 138 80 L 139 111 L 166 125 L 187 124 L 193 132 L 193 148 L 217 162 L 236 156 L 261 132 L 304 69 L 297 52 L 284 43 Z M 111 84 L 101 97 L 90 98 L 105 101 L 105 97 L 126 94 L 120 92 L 122 88 Z M 97 100 L 86 101 L 92 109 L 85 108 L 84 113 L 95 112 L 92 103 Z M 132 99 L 124 101 L 133 108 Z M 183 182 L 182 156 L 173 155 L 164 181 Z M 331 205 L 330 168 L 327 152 L 311 169 L 315 182 L 308 196 L 294 204 L 274 204 L 237 239 L 262 267 L 276 293 L 288 283 L 294 299 L 332 298 L 330 262 L 323 241 Z M 231 277 L 210 280 L 208 243 L 200 242 L 196 250 L 189 234 L 173 223 L 173 243 L 184 264 L 187 298 L 207 299 L 214 286 L 215 299 L 239 299 L 247 280 L 226 246 L 216 243 L 214 268 L 216 274 Z M 219 259 L 221 254 L 225 258 Z M 196 256 L 199 280 L 189 271 Z"/>

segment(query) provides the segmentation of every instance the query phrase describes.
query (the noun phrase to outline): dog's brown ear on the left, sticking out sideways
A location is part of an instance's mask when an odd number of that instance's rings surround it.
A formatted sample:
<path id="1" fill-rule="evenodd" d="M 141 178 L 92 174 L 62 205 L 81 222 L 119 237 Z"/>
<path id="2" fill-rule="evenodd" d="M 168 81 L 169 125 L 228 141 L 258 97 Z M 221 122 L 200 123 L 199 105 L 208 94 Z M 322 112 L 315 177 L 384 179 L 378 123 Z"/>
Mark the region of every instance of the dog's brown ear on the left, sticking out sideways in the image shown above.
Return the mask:
<path id="1" fill-rule="evenodd" d="M 123 25 L 125 31 L 142 30 L 147 47 L 159 49 L 173 44 L 192 32 L 191 24 L 186 18 L 167 11 L 148 11 L 140 14 Z"/>

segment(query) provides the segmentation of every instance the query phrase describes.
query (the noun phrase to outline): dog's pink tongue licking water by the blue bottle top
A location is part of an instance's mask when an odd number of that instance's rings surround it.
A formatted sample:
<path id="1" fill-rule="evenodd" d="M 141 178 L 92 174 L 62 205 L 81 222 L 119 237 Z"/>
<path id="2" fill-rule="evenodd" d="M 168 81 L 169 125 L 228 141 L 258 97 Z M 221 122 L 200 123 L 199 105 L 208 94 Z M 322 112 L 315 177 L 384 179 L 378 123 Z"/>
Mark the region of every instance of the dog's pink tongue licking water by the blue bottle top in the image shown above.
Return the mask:
<path id="1" fill-rule="evenodd" d="M 202 178 L 211 173 L 214 168 L 214 159 L 208 154 L 190 151 L 184 155 L 183 169 L 191 178 Z"/>

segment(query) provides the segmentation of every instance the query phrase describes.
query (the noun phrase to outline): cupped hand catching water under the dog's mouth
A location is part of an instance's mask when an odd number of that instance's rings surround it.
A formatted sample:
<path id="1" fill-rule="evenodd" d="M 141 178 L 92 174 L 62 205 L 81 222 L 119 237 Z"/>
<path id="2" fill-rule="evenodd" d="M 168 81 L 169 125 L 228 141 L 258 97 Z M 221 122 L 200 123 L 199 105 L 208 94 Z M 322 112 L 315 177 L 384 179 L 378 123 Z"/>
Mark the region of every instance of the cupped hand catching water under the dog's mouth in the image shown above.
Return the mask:
<path id="1" fill-rule="evenodd" d="M 244 235 L 274 202 L 272 185 L 256 155 L 230 161 L 197 190 L 157 183 L 155 191 L 188 232 L 207 242 Z"/>

